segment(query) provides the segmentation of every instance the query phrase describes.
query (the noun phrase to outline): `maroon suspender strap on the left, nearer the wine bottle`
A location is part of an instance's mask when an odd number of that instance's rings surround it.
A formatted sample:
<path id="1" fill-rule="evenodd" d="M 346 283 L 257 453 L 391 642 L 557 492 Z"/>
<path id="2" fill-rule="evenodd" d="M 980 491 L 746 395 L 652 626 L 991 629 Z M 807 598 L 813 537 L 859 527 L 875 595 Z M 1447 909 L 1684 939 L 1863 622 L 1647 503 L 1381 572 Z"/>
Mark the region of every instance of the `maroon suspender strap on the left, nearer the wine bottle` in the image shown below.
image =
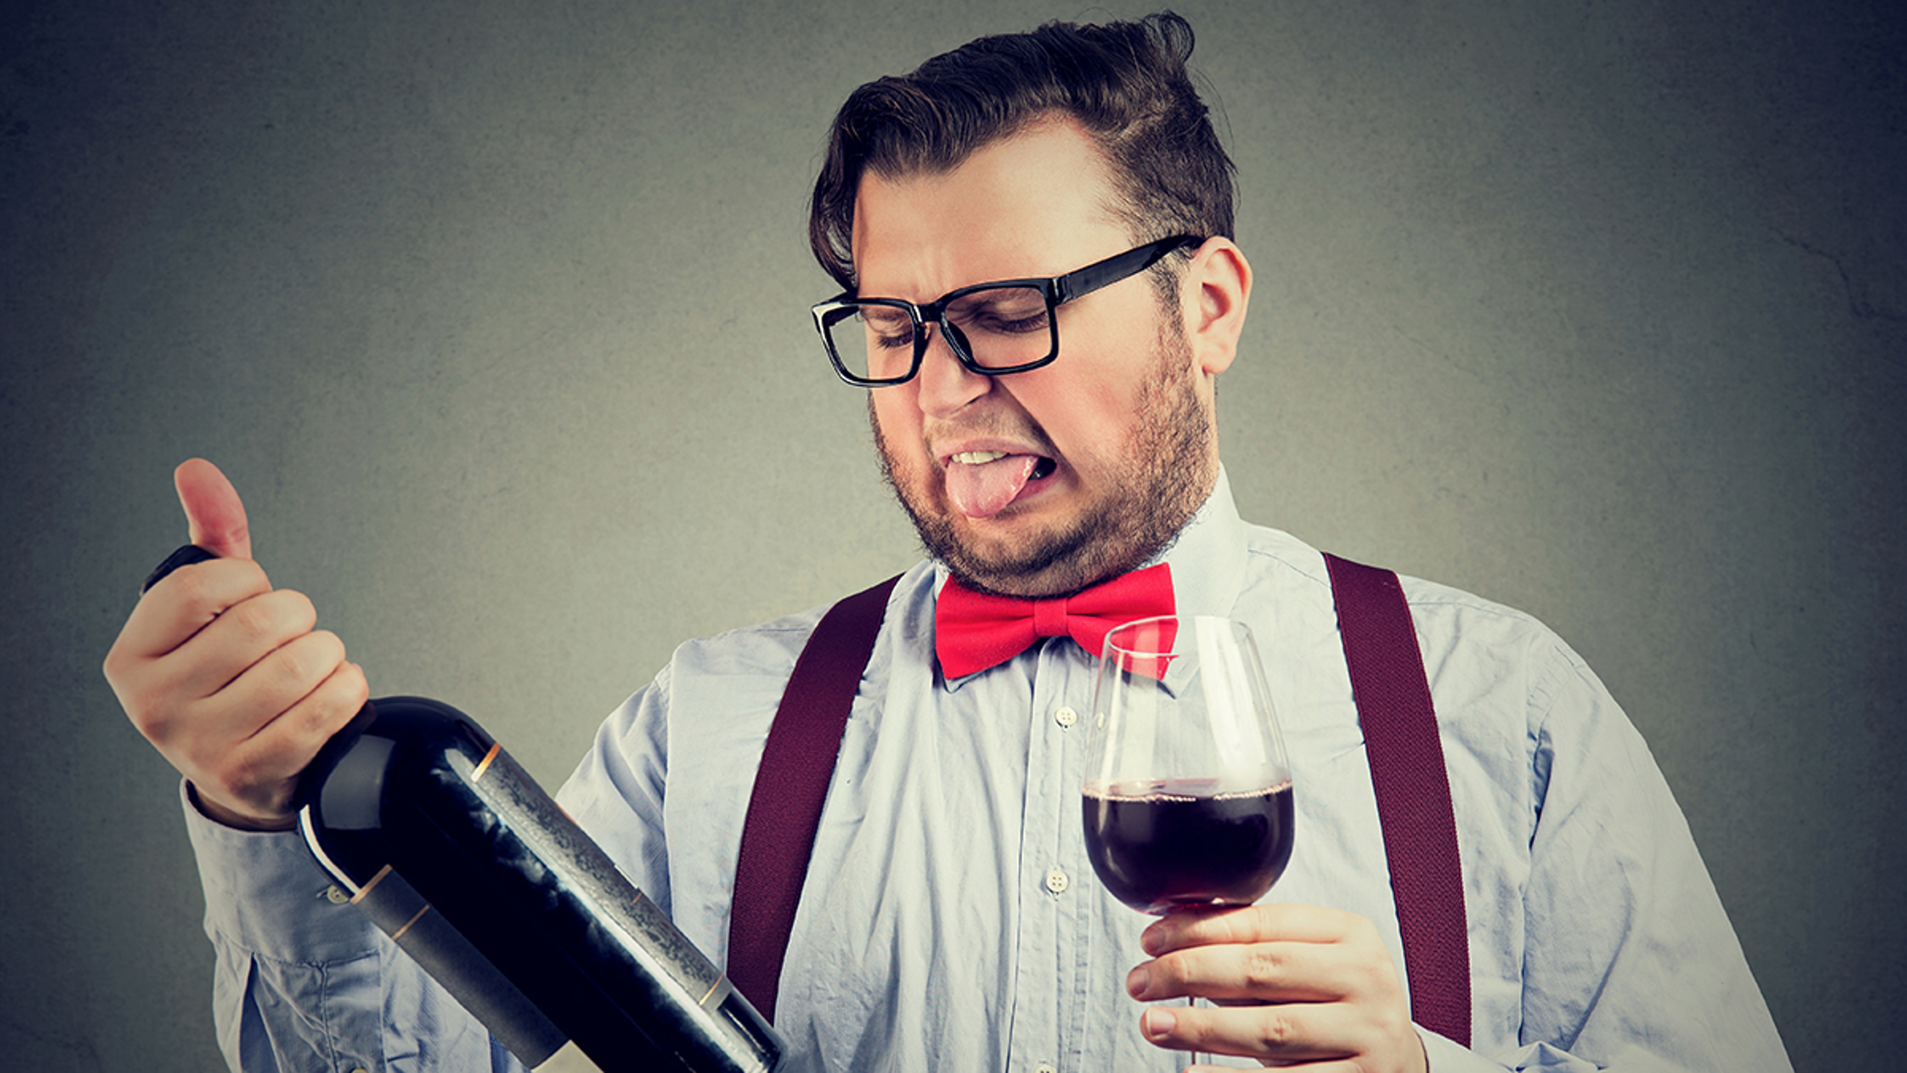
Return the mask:
<path id="1" fill-rule="evenodd" d="M 728 979 L 770 1023 L 841 731 L 896 580 L 900 575 L 822 615 L 788 678 L 755 769 L 728 909 Z"/>

